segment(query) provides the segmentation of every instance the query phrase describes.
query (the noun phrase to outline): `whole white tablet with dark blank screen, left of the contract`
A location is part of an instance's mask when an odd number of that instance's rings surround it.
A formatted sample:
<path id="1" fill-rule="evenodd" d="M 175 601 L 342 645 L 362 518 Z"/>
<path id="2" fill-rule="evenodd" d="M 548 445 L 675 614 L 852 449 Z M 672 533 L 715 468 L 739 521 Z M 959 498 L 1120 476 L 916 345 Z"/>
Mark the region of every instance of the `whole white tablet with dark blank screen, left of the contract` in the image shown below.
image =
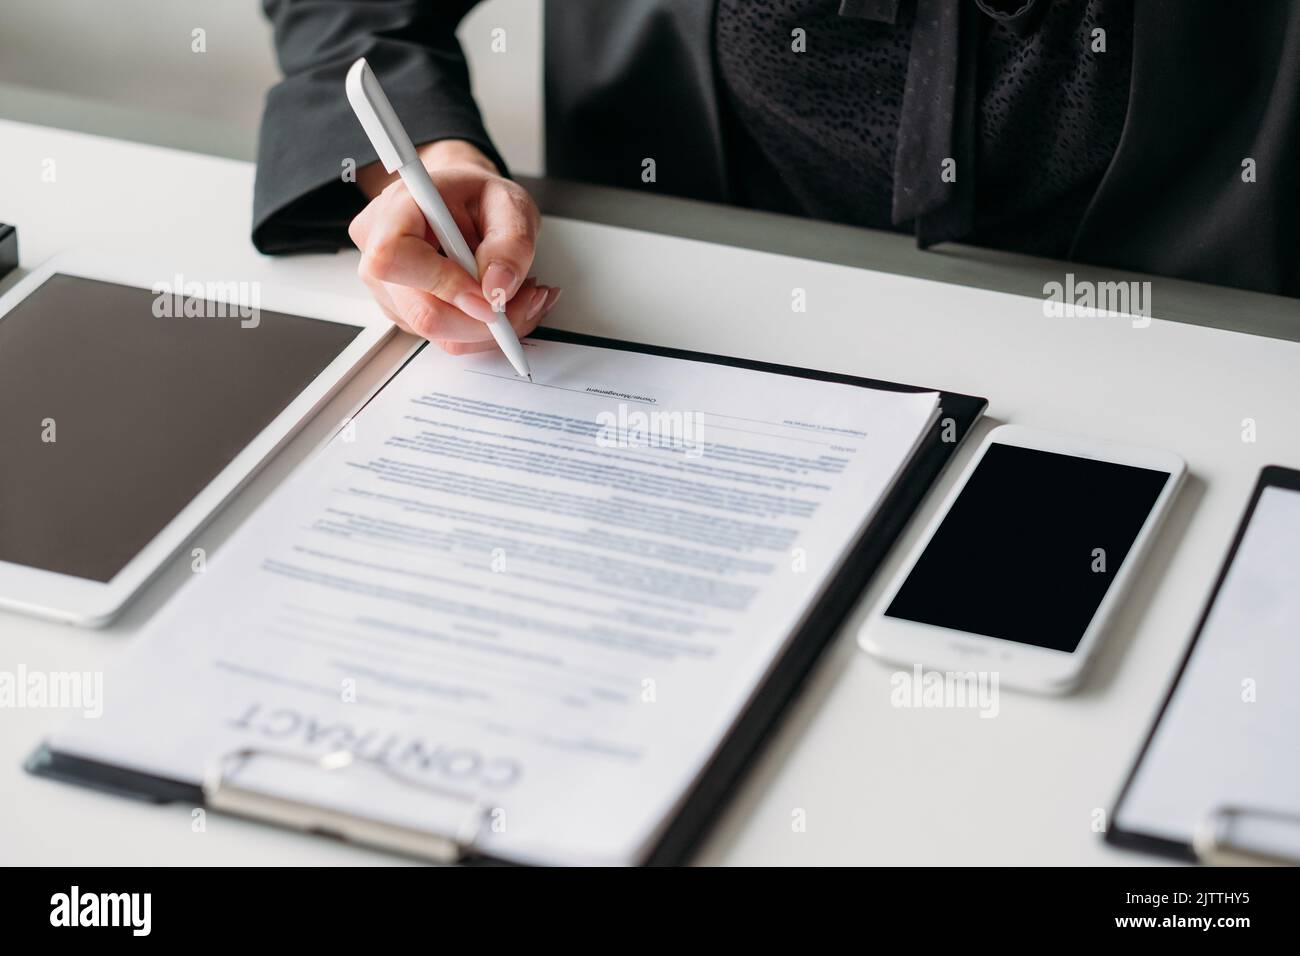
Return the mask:
<path id="1" fill-rule="evenodd" d="M 107 623 L 390 332 L 174 264 L 32 272 L 0 298 L 0 607 Z"/>

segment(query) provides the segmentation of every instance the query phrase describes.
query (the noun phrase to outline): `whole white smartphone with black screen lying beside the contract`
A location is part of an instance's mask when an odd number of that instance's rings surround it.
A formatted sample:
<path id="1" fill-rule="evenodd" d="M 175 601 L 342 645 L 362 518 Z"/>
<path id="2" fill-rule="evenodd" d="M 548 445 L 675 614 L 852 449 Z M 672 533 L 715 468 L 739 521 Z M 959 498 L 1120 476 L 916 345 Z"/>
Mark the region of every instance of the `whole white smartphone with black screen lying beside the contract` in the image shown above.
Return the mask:
<path id="1" fill-rule="evenodd" d="M 1071 691 L 1186 470 L 1169 451 L 994 428 L 858 643 L 894 663 Z"/>

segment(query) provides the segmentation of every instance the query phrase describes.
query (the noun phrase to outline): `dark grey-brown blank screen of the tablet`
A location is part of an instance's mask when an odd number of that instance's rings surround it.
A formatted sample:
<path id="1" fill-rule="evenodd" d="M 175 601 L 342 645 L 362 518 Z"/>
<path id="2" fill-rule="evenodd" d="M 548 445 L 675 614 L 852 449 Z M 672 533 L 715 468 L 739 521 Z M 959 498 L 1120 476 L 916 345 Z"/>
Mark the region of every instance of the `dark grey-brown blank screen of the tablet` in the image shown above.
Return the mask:
<path id="1" fill-rule="evenodd" d="M 360 332 L 177 285 L 55 274 L 0 316 L 0 561 L 110 580 Z"/>

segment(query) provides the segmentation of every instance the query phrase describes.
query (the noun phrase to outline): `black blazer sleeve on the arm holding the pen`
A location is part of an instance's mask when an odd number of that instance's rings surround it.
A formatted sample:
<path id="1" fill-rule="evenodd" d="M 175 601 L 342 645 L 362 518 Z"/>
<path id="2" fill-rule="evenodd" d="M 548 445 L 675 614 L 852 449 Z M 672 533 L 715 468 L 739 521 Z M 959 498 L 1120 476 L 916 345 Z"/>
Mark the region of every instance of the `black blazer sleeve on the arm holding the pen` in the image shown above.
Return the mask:
<path id="1" fill-rule="evenodd" d="M 344 161 L 377 157 L 343 92 L 369 60 L 412 142 L 468 139 L 506 173 L 469 92 L 456 25 L 476 0 L 263 0 L 285 79 L 270 88 L 257 143 L 252 242 L 261 252 L 347 245 L 365 204 Z"/>

